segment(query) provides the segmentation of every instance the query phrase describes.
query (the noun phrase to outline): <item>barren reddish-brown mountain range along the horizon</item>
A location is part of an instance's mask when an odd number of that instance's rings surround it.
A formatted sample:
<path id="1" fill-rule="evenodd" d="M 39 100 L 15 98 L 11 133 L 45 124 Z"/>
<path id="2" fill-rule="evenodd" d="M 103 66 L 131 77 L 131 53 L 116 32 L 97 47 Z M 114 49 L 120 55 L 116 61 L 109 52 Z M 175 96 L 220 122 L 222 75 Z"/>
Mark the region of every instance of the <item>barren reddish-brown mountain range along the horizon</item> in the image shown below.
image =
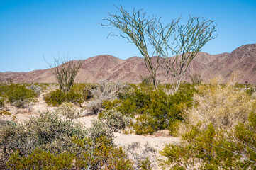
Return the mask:
<path id="1" fill-rule="evenodd" d="M 207 81 L 212 77 L 221 75 L 227 80 L 233 72 L 238 72 L 238 82 L 248 81 L 256 84 L 256 44 L 243 45 L 233 52 L 220 55 L 210 55 L 199 52 L 189 65 L 184 77 L 189 81 L 189 75 L 200 74 L 201 79 Z M 76 77 L 76 82 L 97 83 L 99 81 L 120 81 L 128 83 L 140 83 L 140 75 L 149 75 L 141 57 L 130 57 L 121 60 L 111 55 L 98 55 L 82 60 L 82 67 Z M 0 81 L 11 79 L 15 83 L 52 83 L 55 77 L 52 69 L 40 69 L 32 72 L 0 72 Z M 163 81 L 165 77 L 161 67 L 157 73 L 157 79 Z M 169 79 L 171 82 L 172 79 Z"/>

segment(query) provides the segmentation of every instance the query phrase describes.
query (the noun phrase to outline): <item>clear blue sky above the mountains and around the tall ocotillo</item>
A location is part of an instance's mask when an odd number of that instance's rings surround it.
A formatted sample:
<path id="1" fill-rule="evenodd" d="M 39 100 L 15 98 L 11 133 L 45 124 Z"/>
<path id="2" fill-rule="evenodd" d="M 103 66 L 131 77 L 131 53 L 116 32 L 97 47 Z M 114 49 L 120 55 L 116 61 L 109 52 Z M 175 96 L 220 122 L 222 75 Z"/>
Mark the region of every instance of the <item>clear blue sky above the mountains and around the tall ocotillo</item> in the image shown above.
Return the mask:
<path id="1" fill-rule="evenodd" d="M 135 45 L 110 37 L 115 28 L 100 26 L 108 12 L 122 5 L 143 10 L 169 22 L 182 16 L 202 16 L 218 24 L 218 37 L 203 52 L 232 52 L 256 43 L 256 0 L 0 0 L 0 72 L 46 69 L 53 57 L 86 59 L 113 55 L 121 59 L 140 56 Z"/>

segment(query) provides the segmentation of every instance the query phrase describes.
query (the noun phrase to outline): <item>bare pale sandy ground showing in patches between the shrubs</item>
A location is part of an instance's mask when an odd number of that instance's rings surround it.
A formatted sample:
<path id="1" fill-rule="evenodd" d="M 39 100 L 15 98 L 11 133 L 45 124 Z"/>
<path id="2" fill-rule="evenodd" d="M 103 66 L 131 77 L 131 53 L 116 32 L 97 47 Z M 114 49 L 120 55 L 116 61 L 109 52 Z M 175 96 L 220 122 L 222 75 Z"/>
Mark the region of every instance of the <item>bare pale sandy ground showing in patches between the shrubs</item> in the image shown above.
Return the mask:
<path id="1" fill-rule="evenodd" d="M 76 106 L 78 108 L 78 106 Z M 48 106 L 43 100 L 43 94 L 41 94 L 33 105 L 29 106 L 25 109 L 17 109 L 13 106 L 7 106 L 9 112 L 13 113 L 16 116 L 17 122 L 22 122 L 24 120 L 29 120 L 33 116 L 38 116 L 39 111 L 54 111 L 56 107 Z M 5 120 L 11 120 L 11 117 L 4 118 Z M 91 120 L 97 120 L 97 115 L 86 115 L 78 118 L 77 122 L 82 123 L 84 127 L 89 128 L 91 126 Z M 137 157 L 140 157 L 140 154 L 143 153 L 143 149 L 145 149 L 145 145 L 149 145 L 155 152 L 150 153 L 150 161 L 153 163 L 153 169 L 159 169 L 156 165 L 157 157 L 160 157 L 159 151 L 162 150 L 166 144 L 172 143 L 177 144 L 180 142 L 179 137 L 169 136 L 167 130 L 157 132 L 154 135 L 134 135 L 134 134 L 123 134 L 121 132 L 114 133 L 113 142 L 119 147 L 128 148 L 129 146 L 133 146 L 134 144 L 140 145 L 137 147 L 137 151 L 131 152 L 131 157 L 135 157 L 135 154 L 138 154 Z M 139 151 L 138 151 L 139 149 Z M 154 165 L 155 164 L 155 165 Z"/>

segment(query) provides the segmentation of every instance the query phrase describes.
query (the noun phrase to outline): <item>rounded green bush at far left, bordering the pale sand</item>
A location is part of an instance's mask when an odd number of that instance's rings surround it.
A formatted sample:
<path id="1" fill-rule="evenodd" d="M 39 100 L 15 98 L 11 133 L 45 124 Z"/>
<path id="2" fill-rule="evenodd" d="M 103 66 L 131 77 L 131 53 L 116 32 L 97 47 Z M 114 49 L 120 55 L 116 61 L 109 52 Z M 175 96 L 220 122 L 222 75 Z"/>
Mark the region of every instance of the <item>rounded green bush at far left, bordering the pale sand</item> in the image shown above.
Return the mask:
<path id="1" fill-rule="evenodd" d="M 26 108 L 26 106 L 33 102 L 36 94 L 32 89 L 26 88 L 21 84 L 10 84 L 7 87 L 6 96 L 8 101 L 18 108 Z"/>

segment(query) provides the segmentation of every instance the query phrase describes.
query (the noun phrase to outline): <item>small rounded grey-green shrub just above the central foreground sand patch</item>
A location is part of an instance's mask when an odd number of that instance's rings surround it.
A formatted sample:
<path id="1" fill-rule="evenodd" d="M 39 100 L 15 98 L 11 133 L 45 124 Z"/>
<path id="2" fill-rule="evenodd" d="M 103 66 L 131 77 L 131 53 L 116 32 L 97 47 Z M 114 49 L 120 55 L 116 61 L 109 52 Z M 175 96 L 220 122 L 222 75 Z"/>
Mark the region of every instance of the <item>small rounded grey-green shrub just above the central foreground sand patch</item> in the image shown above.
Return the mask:
<path id="1" fill-rule="evenodd" d="M 103 111 L 99 113 L 99 119 L 105 120 L 108 128 L 118 132 L 118 130 L 124 130 L 130 123 L 130 117 L 123 115 L 121 112 L 114 109 Z"/>

